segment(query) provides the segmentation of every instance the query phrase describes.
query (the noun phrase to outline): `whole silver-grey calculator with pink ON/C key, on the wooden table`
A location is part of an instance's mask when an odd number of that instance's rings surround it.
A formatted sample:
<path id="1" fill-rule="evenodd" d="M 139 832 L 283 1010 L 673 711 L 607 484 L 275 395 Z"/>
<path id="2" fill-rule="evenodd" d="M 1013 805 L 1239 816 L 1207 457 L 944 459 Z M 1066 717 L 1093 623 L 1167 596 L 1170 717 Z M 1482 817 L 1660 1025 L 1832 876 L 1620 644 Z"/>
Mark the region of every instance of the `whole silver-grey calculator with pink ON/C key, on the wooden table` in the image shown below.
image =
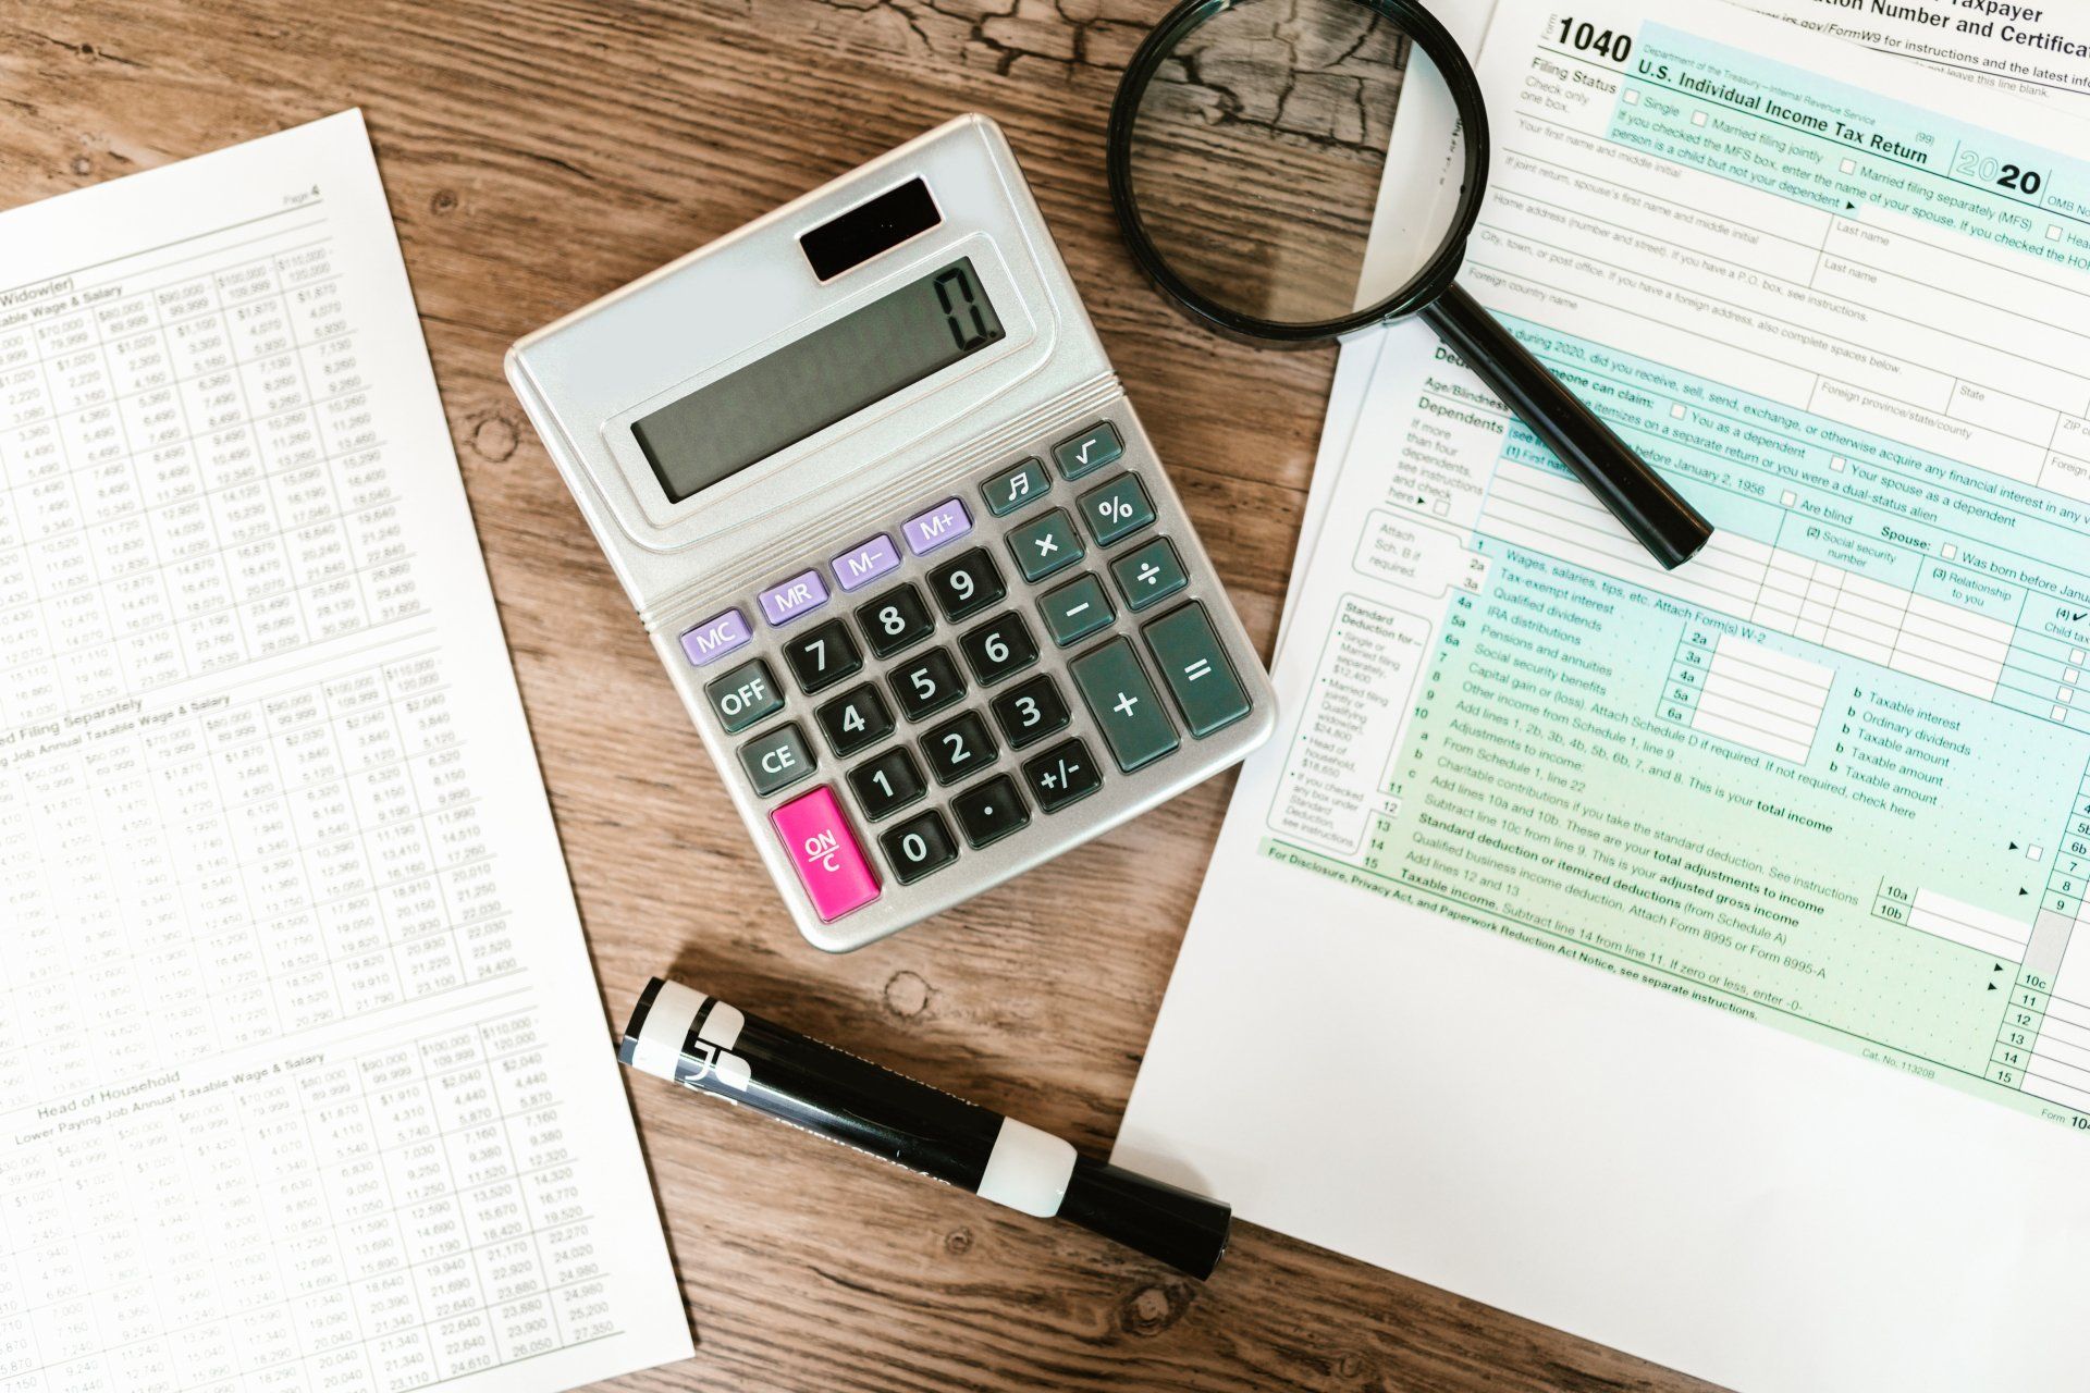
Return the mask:
<path id="1" fill-rule="evenodd" d="M 1275 725 L 986 117 L 529 334 L 508 380 L 819 948 L 1020 875 Z"/>

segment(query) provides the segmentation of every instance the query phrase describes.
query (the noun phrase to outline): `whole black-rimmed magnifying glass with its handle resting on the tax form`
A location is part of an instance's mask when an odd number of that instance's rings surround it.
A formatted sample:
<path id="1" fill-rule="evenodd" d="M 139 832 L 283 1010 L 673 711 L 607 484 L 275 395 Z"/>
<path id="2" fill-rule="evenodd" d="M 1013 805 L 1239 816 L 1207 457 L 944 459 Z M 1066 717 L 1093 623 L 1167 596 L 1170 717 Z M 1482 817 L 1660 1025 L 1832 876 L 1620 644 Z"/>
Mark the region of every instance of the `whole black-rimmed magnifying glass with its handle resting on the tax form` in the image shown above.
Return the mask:
<path id="1" fill-rule="evenodd" d="M 1450 144 L 1390 163 L 1396 113 Z M 1486 180 L 1480 81 L 1413 0 L 1185 0 L 1110 109 L 1124 240 L 1195 320 L 1308 345 L 1421 315 L 1657 562 L 1685 564 L 1712 524 L 1455 280 Z"/>

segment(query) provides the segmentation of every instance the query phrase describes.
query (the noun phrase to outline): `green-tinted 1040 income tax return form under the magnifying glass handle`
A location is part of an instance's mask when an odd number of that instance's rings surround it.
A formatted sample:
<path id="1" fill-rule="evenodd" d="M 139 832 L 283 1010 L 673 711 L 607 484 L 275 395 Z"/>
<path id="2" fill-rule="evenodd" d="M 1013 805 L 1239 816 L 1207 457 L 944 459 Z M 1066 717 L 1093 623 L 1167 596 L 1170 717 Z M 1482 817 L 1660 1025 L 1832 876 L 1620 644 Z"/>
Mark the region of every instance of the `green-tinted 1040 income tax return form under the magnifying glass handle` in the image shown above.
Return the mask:
<path id="1" fill-rule="evenodd" d="M 1720 535 L 1386 334 L 1118 1159 L 1743 1389 L 2073 1387 L 2090 134 L 1718 4 L 1482 84 L 1465 282 Z"/>

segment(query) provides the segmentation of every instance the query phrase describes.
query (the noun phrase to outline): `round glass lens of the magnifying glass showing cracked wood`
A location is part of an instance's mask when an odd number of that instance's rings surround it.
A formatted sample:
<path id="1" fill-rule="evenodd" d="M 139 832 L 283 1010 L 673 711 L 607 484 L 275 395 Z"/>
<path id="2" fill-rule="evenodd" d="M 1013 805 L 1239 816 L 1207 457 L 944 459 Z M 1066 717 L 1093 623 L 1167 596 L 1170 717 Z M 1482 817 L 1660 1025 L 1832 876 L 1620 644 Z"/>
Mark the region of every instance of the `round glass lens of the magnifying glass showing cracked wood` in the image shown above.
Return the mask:
<path id="1" fill-rule="evenodd" d="M 1325 324 L 1402 297 L 1459 232 L 1459 140 L 1450 88 L 1398 21 L 1356 0 L 1239 0 L 1154 69 L 1129 194 L 1189 290 L 1262 324 Z"/>

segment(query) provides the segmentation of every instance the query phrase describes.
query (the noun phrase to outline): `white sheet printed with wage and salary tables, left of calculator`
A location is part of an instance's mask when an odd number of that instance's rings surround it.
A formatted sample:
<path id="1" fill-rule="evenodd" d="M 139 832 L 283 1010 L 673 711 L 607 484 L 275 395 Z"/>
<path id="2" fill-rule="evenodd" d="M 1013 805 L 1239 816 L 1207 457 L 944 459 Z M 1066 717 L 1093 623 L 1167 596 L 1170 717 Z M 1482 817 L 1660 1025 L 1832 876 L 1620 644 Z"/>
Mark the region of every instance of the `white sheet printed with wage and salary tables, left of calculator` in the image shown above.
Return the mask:
<path id="1" fill-rule="evenodd" d="M 690 1353 L 362 117 L 0 265 L 0 1389 Z"/>

